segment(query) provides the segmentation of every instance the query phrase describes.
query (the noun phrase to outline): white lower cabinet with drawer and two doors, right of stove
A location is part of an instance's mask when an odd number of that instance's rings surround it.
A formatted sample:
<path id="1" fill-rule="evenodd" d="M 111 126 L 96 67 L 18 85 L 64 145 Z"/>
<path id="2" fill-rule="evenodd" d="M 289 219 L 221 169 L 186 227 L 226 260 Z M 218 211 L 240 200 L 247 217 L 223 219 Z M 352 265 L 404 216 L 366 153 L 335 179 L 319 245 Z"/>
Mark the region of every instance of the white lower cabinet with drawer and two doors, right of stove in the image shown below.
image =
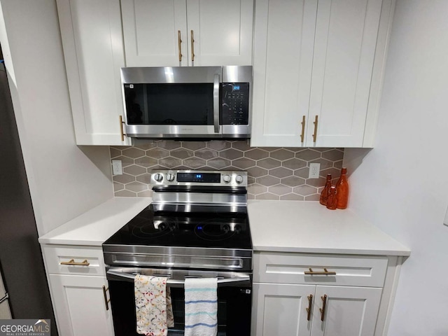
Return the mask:
<path id="1" fill-rule="evenodd" d="M 376 328 L 381 300 L 388 302 L 382 296 L 388 260 L 255 253 L 251 335 L 381 335 Z"/>

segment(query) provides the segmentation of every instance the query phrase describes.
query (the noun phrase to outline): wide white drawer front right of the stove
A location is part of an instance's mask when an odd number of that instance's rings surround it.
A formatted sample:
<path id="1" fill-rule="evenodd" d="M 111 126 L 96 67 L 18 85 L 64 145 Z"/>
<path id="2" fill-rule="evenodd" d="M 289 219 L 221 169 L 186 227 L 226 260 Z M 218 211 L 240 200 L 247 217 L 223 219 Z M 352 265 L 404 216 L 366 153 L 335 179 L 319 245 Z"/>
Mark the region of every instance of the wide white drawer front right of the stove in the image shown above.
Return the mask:
<path id="1" fill-rule="evenodd" d="M 253 281 L 382 287 L 387 258 L 356 255 L 255 253 Z M 310 272 L 314 274 L 305 274 Z M 316 274 L 318 272 L 332 274 Z"/>

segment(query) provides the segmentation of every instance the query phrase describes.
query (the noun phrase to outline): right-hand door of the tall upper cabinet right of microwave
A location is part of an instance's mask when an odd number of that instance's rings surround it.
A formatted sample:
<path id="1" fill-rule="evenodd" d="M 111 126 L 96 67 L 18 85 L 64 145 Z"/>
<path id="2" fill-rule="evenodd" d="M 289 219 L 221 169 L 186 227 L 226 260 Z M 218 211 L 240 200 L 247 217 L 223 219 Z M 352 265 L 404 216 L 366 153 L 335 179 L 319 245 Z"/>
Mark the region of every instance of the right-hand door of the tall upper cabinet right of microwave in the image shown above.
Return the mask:
<path id="1" fill-rule="evenodd" d="M 308 146 L 363 146 L 381 3 L 318 1 Z"/>

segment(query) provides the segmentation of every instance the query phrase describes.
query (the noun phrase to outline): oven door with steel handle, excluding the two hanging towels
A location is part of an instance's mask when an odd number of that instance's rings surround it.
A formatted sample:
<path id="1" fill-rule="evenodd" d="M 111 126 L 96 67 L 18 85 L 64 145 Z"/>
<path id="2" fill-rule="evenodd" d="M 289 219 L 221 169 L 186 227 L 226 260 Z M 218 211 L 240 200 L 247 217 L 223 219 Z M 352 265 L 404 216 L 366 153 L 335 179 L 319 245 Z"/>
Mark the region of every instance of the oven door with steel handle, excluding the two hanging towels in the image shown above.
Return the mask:
<path id="1" fill-rule="evenodd" d="M 237 272 L 209 272 L 171 269 L 109 268 L 107 279 L 111 295 L 113 326 L 116 336 L 139 335 L 134 300 L 134 276 L 167 276 L 170 287 L 174 328 L 168 335 L 184 335 L 186 277 L 218 278 L 218 336 L 251 335 L 252 275 Z"/>

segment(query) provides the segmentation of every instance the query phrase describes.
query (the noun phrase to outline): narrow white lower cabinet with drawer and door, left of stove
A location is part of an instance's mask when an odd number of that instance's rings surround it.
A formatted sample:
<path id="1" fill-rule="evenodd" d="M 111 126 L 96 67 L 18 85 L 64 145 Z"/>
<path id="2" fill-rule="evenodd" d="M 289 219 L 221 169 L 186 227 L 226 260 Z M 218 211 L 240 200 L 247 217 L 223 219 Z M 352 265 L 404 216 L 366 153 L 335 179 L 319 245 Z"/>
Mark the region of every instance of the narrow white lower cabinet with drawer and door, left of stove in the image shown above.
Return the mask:
<path id="1" fill-rule="evenodd" d="M 59 336 L 113 336 L 101 246 L 43 245 Z"/>

